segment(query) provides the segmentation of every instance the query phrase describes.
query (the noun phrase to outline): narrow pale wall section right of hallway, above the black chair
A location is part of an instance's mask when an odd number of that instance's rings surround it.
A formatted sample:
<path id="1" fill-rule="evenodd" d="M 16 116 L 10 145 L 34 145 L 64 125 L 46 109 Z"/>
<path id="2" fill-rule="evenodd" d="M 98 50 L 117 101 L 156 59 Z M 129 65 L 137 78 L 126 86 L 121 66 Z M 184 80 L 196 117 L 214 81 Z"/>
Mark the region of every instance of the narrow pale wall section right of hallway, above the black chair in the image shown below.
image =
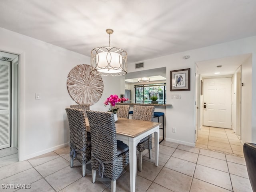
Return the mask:
<path id="1" fill-rule="evenodd" d="M 255 76 L 255 74 L 254 74 Z M 243 64 L 241 70 L 241 80 L 244 86 L 241 88 L 241 140 L 242 142 L 252 142 L 252 57 L 250 56 Z M 253 86 L 256 89 L 255 84 Z M 254 95 L 255 96 L 255 95 Z M 254 104 L 255 106 L 255 104 Z M 254 116 L 255 119 L 255 116 Z M 255 126 L 255 125 L 254 125 Z M 252 135 L 254 141 L 255 136 Z"/>

